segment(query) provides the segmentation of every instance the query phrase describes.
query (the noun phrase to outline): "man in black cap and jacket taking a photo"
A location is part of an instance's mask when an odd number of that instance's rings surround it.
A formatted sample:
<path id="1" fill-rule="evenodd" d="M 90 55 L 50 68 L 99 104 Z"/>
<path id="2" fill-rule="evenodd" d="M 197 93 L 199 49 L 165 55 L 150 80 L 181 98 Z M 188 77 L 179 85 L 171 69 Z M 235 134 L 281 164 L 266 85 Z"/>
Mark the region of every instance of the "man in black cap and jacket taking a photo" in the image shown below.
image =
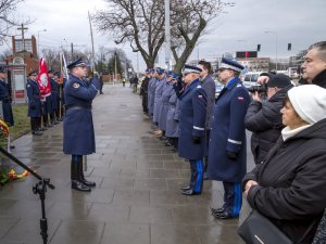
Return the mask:
<path id="1" fill-rule="evenodd" d="M 281 124 L 280 110 L 287 91 L 293 87 L 288 76 L 284 74 L 266 74 L 259 79 L 258 87 L 249 88 L 252 94 L 252 102 L 249 104 L 244 125 L 252 131 L 251 152 L 254 163 L 260 164 L 269 149 L 275 144 L 284 128 Z M 267 101 L 262 101 L 262 94 L 267 93 Z"/>

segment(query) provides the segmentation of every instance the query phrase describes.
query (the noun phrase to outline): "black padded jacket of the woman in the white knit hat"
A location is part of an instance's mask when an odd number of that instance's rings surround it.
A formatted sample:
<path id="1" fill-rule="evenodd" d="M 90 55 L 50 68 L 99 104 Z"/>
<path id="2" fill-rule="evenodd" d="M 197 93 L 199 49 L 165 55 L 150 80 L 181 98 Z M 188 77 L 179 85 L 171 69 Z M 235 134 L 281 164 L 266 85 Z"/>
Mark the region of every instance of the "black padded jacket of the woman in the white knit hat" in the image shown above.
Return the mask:
<path id="1" fill-rule="evenodd" d="M 248 203 L 268 217 L 294 243 L 311 243 L 326 207 L 326 119 L 285 142 L 280 138 L 265 160 L 247 174 L 259 185 Z"/>

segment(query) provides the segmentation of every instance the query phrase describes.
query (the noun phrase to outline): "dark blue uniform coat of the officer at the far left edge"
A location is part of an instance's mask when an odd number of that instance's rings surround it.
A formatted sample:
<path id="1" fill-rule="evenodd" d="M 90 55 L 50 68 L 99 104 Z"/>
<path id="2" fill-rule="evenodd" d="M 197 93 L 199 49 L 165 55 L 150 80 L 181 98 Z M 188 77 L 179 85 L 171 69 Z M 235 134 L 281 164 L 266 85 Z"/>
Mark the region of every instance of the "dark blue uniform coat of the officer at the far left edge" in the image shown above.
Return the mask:
<path id="1" fill-rule="evenodd" d="M 13 115 L 11 107 L 11 98 L 9 94 L 9 86 L 4 80 L 0 79 L 0 100 L 2 101 L 3 120 L 8 126 L 13 126 Z"/>

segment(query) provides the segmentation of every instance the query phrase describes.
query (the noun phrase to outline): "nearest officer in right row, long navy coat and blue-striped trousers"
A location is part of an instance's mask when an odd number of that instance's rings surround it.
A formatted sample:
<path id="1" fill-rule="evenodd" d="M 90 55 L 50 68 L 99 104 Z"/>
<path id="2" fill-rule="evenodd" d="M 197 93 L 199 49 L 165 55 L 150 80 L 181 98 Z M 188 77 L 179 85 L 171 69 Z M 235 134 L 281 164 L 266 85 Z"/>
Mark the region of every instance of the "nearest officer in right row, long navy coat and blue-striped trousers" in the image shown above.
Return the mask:
<path id="1" fill-rule="evenodd" d="M 225 85 L 216 99 L 209 146 L 208 176 L 223 181 L 224 205 L 212 208 L 217 219 L 238 218 L 241 209 L 241 180 L 247 172 L 244 116 L 250 103 L 239 75 L 243 66 L 222 59 L 218 80 Z"/>

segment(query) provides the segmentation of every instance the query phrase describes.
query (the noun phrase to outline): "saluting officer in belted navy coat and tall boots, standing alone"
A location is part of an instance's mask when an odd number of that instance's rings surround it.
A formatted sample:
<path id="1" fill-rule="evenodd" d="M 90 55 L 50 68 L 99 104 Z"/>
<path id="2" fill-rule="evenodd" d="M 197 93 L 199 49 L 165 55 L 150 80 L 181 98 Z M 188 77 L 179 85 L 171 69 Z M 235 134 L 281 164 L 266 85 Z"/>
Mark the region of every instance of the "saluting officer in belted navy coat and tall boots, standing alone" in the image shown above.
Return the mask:
<path id="1" fill-rule="evenodd" d="M 66 114 L 63 121 L 63 152 L 72 155 L 72 189 L 89 192 L 95 182 L 84 177 L 83 155 L 96 152 L 91 103 L 100 82 L 98 78 L 85 79 L 87 65 L 78 59 L 67 65 L 70 77 L 64 87 Z"/>

